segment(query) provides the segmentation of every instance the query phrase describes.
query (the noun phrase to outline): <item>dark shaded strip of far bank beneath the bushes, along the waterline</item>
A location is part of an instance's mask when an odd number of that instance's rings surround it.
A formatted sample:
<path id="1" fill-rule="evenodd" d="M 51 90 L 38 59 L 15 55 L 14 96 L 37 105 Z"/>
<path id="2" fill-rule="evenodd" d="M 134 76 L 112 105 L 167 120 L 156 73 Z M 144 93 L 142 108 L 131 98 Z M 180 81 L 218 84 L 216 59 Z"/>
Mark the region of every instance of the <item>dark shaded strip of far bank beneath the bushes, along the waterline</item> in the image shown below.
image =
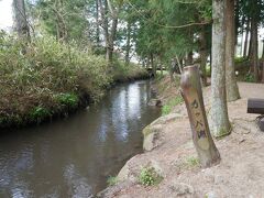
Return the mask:
<path id="1" fill-rule="evenodd" d="M 144 80 L 144 79 L 150 79 L 150 76 L 147 73 L 139 73 L 138 76 L 127 75 L 127 76 L 123 76 L 122 78 L 118 77 L 113 79 L 113 81 L 108 87 L 105 87 L 103 91 L 106 92 L 107 90 L 111 89 L 112 87 L 119 84 L 133 82 L 136 80 Z M 95 101 L 91 99 L 91 96 L 89 96 L 87 91 L 79 90 L 76 94 L 76 96 L 77 96 L 77 103 L 74 106 L 70 103 L 68 105 L 61 103 L 59 106 L 56 106 L 56 109 L 53 109 L 52 113 L 40 114 L 40 117 L 35 117 L 34 119 L 29 117 L 30 112 L 26 112 L 25 114 L 28 114 L 28 118 L 22 119 L 22 118 L 15 117 L 12 120 L 8 120 L 7 123 L 4 122 L 0 123 L 0 129 L 10 129 L 10 128 L 20 129 L 20 128 L 26 128 L 32 125 L 38 125 L 45 122 L 52 122 L 57 119 L 67 118 L 74 114 L 75 112 L 77 112 L 78 110 L 85 109 L 89 105 L 95 103 Z M 101 99 L 103 99 L 103 97 L 100 98 L 100 100 Z"/>

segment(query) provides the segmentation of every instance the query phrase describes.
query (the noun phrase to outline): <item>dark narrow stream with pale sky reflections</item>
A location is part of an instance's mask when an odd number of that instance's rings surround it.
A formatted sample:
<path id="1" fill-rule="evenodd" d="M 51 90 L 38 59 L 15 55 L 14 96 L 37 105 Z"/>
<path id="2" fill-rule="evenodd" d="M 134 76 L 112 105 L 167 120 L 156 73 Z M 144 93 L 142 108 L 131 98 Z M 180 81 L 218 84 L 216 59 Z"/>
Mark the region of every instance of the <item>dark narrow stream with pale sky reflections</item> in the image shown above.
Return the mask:
<path id="1" fill-rule="evenodd" d="M 0 133 L 0 197 L 88 197 L 136 153 L 161 111 L 150 81 L 114 87 L 69 119 Z"/>

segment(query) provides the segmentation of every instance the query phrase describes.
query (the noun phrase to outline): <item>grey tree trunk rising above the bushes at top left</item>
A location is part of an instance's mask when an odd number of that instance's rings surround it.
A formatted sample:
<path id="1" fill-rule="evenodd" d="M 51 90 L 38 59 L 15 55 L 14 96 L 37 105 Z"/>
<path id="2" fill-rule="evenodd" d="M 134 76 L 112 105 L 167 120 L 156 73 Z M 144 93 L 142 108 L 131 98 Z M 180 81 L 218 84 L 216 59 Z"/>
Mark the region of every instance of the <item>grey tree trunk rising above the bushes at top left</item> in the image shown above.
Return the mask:
<path id="1" fill-rule="evenodd" d="M 13 0 L 15 31 L 21 40 L 30 41 L 30 28 L 25 14 L 24 0 Z"/>

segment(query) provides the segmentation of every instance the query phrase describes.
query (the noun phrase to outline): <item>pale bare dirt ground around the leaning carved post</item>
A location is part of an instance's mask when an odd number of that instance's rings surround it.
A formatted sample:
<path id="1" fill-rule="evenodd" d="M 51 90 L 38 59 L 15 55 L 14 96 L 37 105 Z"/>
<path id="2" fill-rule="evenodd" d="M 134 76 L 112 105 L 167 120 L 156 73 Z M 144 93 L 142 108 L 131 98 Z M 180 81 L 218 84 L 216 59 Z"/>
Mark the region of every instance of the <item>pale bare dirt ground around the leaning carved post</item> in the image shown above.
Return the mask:
<path id="1" fill-rule="evenodd" d="M 264 85 L 239 82 L 239 88 L 241 99 L 229 103 L 232 133 L 215 140 L 221 154 L 219 165 L 202 169 L 189 161 L 197 155 L 187 112 L 180 105 L 174 110 L 175 119 L 158 122 L 156 147 L 132 157 L 120 172 L 119 184 L 100 197 L 264 197 L 264 132 L 256 125 L 257 114 L 246 113 L 248 98 L 264 99 Z M 204 89 L 204 97 L 209 111 L 210 87 Z M 154 167 L 164 179 L 150 187 L 139 184 L 144 166 Z"/>

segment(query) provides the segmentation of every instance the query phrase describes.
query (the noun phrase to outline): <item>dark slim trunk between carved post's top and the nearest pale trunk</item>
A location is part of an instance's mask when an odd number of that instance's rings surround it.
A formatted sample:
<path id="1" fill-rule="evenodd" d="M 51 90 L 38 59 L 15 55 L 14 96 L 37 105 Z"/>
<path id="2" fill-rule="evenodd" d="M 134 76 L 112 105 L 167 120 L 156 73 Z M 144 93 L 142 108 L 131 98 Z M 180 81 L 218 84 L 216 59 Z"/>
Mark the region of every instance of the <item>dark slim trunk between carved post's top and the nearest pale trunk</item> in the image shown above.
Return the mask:
<path id="1" fill-rule="evenodd" d="M 201 79 L 204 86 L 207 86 L 207 72 L 206 72 L 206 64 L 207 64 L 207 40 L 206 40 L 206 29 L 202 28 L 200 33 L 200 69 L 201 69 Z"/>

